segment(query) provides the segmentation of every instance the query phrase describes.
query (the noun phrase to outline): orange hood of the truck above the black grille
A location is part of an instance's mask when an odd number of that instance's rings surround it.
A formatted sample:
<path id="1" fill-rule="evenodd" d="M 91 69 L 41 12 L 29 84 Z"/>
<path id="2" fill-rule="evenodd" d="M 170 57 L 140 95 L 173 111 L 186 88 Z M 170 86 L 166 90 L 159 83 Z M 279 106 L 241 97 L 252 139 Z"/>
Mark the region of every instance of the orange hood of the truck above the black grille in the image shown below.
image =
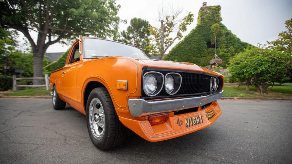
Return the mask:
<path id="1" fill-rule="evenodd" d="M 174 69 L 174 70 L 189 70 L 197 72 L 206 72 L 213 75 L 220 75 L 214 71 L 205 69 L 193 63 L 187 62 L 173 62 L 173 61 L 164 61 L 164 60 L 152 60 L 152 59 L 136 59 L 141 63 L 146 64 L 148 67 L 152 68 L 164 68 L 164 69 Z"/>

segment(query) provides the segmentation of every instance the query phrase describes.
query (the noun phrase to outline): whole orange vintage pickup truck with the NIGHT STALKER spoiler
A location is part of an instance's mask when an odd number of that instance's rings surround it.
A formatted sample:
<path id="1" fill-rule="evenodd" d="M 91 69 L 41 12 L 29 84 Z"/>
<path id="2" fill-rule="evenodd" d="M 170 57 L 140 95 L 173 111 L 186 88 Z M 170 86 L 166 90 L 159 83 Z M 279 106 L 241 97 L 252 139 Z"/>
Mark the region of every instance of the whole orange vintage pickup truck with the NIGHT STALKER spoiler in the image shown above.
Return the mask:
<path id="1" fill-rule="evenodd" d="M 127 129 L 162 141 L 211 125 L 224 77 L 193 63 L 149 59 L 124 43 L 83 37 L 64 67 L 50 75 L 54 109 L 66 103 L 86 115 L 93 144 L 102 150 L 123 142 Z"/>

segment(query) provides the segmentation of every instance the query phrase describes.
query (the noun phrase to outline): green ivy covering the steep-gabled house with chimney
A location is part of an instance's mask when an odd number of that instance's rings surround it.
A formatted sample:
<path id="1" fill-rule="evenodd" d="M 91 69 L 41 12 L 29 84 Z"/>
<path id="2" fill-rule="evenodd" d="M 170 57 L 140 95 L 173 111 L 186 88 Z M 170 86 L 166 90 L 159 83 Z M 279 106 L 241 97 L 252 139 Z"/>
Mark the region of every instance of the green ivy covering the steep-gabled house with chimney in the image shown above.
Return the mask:
<path id="1" fill-rule="evenodd" d="M 196 28 L 170 50 L 165 60 L 207 66 L 215 55 L 214 36 L 216 36 L 217 55 L 223 60 L 221 66 L 226 67 L 231 57 L 251 46 L 242 42 L 221 23 L 220 10 L 220 5 L 201 7 Z"/>

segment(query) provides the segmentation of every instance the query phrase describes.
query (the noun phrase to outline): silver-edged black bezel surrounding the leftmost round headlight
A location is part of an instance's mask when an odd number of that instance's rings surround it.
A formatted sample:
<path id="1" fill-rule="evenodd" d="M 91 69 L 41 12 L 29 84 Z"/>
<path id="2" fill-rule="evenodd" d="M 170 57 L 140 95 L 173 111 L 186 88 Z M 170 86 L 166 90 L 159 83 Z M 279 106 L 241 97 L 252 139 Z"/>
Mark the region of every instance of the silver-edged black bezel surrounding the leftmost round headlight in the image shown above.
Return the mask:
<path id="1" fill-rule="evenodd" d="M 148 74 L 151 74 L 153 75 L 155 78 L 156 78 L 156 89 L 155 91 L 152 93 L 152 94 L 148 94 L 146 91 L 145 91 L 145 88 L 144 88 L 144 79 L 145 77 L 148 75 Z M 146 72 L 143 76 L 143 79 L 142 79 L 142 87 L 143 87 L 143 91 L 146 95 L 150 96 L 150 97 L 153 97 L 153 96 L 156 96 L 157 94 L 160 93 L 160 91 L 162 90 L 163 88 L 163 84 L 164 84 L 164 76 L 162 73 L 160 72 L 155 72 L 155 71 L 150 71 L 150 72 Z"/>

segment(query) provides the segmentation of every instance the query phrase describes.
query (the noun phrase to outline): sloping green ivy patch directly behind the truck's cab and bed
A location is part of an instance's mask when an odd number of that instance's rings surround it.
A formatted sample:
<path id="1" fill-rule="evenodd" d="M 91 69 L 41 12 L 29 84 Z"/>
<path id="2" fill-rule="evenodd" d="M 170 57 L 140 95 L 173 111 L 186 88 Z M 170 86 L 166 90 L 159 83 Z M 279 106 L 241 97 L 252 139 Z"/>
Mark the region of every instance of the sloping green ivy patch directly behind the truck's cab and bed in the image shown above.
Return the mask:
<path id="1" fill-rule="evenodd" d="M 70 49 L 69 49 L 70 50 Z M 66 63 L 66 59 L 69 53 L 69 50 L 67 50 L 66 52 L 64 52 L 59 59 L 57 59 L 56 61 L 48 64 L 46 67 L 43 68 L 43 73 L 48 73 L 50 74 L 52 71 L 57 70 L 59 68 L 62 68 L 65 66 Z"/>

